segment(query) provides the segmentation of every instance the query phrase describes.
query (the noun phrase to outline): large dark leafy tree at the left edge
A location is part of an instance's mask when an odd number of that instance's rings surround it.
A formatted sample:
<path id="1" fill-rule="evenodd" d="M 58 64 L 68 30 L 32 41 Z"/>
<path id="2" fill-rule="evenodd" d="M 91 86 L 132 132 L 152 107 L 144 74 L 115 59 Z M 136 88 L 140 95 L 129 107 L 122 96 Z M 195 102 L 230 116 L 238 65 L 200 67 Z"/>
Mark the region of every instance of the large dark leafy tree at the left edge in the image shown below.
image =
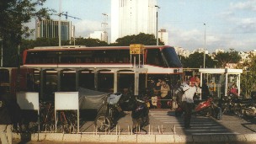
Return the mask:
<path id="1" fill-rule="evenodd" d="M 13 59 L 18 58 L 17 50 L 18 45 L 21 44 L 22 35 L 27 37 L 34 31 L 25 24 L 29 23 L 32 18 L 49 19 L 49 12 L 54 12 L 48 8 L 40 8 L 44 2 L 45 0 L 1 1 L 0 37 L 3 39 L 3 59 L 5 60 L 3 64 L 5 67 L 13 67 Z"/>

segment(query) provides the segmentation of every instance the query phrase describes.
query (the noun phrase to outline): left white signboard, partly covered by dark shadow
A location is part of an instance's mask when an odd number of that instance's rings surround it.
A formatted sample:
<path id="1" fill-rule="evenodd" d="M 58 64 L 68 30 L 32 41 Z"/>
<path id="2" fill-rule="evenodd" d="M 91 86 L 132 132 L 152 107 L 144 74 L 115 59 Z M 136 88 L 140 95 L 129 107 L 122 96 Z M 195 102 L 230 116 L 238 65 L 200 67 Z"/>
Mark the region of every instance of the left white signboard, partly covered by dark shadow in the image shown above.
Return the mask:
<path id="1" fill-rule="evenodd" d="M 16 97 L 20 109 L 39 110 L 39 93 L 19 92 Z"/>

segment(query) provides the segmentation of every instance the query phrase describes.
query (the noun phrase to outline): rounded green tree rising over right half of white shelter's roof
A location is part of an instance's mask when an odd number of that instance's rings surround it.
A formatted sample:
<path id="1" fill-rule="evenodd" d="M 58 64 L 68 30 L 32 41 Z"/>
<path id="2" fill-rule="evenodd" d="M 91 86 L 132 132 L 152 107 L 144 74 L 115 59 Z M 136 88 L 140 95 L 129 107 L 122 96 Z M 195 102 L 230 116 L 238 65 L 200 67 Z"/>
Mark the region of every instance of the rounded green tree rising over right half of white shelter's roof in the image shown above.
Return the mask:
<path id="1" fill-rule="evenodd" d="M 218 61 L 218 67 L 225 67 L 227 63 L 237 63 L 241 60 L 241 56 L 237 51 L 219 52 L 216 54 L 215 59 Z"/>

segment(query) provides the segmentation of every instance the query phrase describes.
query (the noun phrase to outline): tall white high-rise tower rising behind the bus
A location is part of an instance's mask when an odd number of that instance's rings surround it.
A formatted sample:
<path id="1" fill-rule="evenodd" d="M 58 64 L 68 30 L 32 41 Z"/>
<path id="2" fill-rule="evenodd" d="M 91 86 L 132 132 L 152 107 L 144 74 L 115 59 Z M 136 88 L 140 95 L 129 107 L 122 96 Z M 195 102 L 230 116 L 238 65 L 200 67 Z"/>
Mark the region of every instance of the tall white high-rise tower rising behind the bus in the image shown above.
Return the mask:
<path id="1" fill-rule="evenodd" d="M 126 35 L 157 33 L 157 0 L 111 0 L 111 43 Z"/>

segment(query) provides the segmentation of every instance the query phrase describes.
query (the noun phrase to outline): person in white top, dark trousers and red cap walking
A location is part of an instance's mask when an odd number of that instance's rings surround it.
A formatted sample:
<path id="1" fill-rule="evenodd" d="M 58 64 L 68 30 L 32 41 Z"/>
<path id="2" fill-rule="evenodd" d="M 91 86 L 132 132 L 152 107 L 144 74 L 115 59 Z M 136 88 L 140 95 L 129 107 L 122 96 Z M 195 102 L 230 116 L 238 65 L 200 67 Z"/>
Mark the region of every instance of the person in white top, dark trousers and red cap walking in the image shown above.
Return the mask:
<path id="1" fill-rule="evenodd" d="M 184 87 L 186 88 L 186 87 Z M 192 115 L 192 109 L 194 109 L 194 95 L 196 93 L 195 77 L 191 77 L 189 80 L 189 88 L 184 89 L 183 105 L 184 105 L 184 127 L 188 129 L 191 127 L 190 120 Z"/>

